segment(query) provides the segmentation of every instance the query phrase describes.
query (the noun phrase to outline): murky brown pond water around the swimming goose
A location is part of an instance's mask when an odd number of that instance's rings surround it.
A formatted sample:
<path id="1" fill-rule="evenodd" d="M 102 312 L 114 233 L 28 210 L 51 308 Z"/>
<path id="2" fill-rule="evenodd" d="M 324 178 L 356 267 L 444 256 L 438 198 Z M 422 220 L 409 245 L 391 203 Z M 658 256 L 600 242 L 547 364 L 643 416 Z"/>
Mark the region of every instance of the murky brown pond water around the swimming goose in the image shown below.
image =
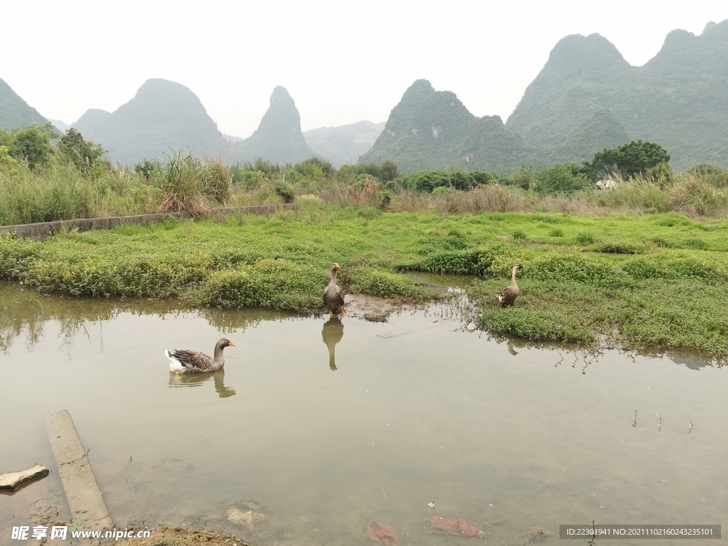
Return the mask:
<path id="1" fill-rule="evenodd" d="M 438 308 L 328 323 L 0 285 L 0 312 L 0 472 L 54 467 L 41 415 L 68 409 L 119 523 L 291 545 L 363 545 L 370 521 L 452 542 L 432 515 L 506 545 L 529 526 L 728 523 L 728 375 L 700 360 L 498 343 Z M 223 334 L 223 372 L 169 373 L 165 348 Z M 0 496 L 0 542 L 39 499 L 64 517 L 55 476 Z M 223 518 L 244 500 L 269 517 L 253 531 Z"/>

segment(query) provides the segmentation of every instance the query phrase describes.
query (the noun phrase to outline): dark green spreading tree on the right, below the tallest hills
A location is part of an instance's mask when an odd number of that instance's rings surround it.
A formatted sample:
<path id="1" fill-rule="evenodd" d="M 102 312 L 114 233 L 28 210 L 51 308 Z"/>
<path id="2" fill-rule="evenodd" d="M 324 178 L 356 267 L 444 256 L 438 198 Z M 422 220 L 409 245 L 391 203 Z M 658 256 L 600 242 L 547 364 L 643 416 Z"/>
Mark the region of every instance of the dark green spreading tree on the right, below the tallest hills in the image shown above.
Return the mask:
<path id="1" fill-rule="evenodd" d="M 597 152 L 592 162 L 585 162 L 584 166 L 592 180 L 596 182 L 600 178 L 612 175 L 630 178 L 669 161 L 668 151 L 660 144 L 632 141 L 616 149 L 605 148 Z"/>

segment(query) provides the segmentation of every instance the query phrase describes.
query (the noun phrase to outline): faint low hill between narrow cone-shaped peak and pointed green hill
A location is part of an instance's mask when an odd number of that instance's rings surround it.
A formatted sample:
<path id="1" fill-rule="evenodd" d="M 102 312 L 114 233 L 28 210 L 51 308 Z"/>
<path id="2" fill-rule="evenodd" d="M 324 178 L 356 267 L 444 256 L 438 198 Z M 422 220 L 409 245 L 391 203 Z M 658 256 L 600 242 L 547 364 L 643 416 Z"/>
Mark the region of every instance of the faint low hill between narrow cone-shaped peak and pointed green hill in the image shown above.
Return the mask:
<path id="1" fill-rule="evenodd" d="M 309 148 L 334 167 L 352 165 L 374 145 L 384 129 L 384 122 L 356 122 L 339 127 L 319 127 L 304 131 Z"/>

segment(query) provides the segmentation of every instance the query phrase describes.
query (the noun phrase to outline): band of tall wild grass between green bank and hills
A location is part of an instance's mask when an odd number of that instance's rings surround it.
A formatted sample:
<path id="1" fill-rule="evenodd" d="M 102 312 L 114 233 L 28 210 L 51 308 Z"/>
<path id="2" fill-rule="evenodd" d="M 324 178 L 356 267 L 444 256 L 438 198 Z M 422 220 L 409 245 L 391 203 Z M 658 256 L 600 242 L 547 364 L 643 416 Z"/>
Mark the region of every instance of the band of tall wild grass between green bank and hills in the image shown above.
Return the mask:
<path id="1" fill-rule="evenodd" d="M 154 211 L 189 211 L 199 216 L 221 205 L 306 200 L 393 212 L 432 210 L 442 216 L 549 213 L 605 218 L 675 212 L 689 218 L 728 218 L 728 173 L 709 165 L 669 176 L 617 178 L 610 189 L 550 195 L 528 189 L 523 170 L 510 178 L 478 181 L 470 189 L 438 186 L 429 193 L 406 183 L 411 177 L 384 182 L 369 173 L 357 173 L 353 167 L 333 170 L 319 158 L 296 165 L 256 159 L 253 165 L 231 167 L 179 151 L 166 162 L 145 163 L 150 168 L 144 172 L 119 167 L 95 171 L 93 176 L 60 156 L 34 170 L 27 165 L 0 165 L 0 223 Z"/>

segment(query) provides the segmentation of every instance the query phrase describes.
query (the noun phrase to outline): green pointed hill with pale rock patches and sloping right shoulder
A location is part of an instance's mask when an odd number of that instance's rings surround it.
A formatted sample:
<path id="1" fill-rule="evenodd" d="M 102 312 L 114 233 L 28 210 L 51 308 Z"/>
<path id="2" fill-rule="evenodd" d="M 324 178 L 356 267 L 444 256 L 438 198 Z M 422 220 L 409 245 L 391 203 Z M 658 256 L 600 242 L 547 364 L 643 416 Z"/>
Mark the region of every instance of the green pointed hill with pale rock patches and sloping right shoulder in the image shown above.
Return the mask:
<path id="1" fill-rule="evenodd" d="M 542 154 L 507 130 L 499 116 L 478 118 L 450 91 L 418 79 L 392 108 L 384 130 L 360 162 L 392 159 L 402 171 L 444 169 L 510 173 L 542 163 Z"/>

